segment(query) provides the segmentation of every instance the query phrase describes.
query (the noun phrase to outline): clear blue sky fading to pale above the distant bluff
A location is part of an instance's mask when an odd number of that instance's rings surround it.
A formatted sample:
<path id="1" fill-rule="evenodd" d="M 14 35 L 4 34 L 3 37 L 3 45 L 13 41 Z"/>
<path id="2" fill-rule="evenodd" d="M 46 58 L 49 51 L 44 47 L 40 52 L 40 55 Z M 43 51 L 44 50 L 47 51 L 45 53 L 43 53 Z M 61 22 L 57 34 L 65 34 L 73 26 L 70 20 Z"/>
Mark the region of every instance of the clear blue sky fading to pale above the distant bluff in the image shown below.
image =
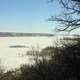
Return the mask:
<path id="1" fill-rule="evenodd" d="M 47 19 L 61 10 L 48 0 L 0 0 L 0 32 L 52 33 Z"/>

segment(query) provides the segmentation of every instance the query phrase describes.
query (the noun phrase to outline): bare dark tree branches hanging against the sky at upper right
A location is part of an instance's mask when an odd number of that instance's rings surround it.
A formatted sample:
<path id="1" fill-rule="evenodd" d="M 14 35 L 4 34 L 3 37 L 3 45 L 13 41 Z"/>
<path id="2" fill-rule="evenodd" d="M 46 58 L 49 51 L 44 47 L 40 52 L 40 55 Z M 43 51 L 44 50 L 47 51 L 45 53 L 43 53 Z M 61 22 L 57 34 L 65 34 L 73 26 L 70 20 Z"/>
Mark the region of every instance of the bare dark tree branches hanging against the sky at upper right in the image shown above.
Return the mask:
<path id="1" fill-rule="evenodd" d="M 57 21 L 62 24 L 62 28 L 58 28 L 58 31 L 72 31 L 80 28 L 80 0 L 58 0 L 58 2 L 65 11 L 62 16 L 51 16 L 49 21 Z"/>

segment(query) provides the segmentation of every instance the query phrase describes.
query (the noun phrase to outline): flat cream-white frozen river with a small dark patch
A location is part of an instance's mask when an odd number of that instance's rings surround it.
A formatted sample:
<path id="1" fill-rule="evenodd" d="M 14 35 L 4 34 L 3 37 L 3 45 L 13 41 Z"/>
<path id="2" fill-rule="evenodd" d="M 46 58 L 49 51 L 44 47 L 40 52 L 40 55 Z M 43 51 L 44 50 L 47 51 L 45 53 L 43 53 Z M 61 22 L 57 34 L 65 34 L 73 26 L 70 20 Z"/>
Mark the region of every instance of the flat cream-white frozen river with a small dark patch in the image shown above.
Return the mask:
<path id="1" fill-rule="evenodd" d="M 54 39 L 55 40 L 55 39 Z M 7 69 L 30 63 L 28 56 L 20 57 L 32 47 L 44 48 L 52 45 L 52 37 L 0 37 L 0 59 Z"/>

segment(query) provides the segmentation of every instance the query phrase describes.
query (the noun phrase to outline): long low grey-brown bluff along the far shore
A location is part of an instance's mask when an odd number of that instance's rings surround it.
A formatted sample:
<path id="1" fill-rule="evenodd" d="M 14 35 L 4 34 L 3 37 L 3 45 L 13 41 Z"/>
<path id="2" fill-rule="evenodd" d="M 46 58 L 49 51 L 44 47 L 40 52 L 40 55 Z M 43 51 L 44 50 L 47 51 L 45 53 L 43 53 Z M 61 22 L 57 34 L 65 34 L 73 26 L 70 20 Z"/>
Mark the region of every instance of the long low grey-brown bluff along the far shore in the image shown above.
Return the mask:
<path id="1" fill-rule="evenodd" d="M 26 36 L 54 36 L 49 33 L 15 33 L 15 32 L 0 32 L 0 37 L 26 37 Z"/>

